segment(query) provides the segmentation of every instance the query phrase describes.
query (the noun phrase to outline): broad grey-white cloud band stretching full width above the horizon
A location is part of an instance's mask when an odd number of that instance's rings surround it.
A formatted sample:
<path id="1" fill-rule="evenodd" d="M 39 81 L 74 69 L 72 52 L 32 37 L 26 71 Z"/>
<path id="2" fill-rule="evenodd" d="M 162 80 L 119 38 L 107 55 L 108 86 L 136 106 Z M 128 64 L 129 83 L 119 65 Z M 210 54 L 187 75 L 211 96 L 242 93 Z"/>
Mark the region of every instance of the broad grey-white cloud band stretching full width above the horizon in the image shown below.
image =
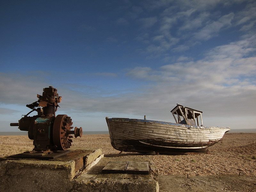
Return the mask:
<path id="1" fill-rule="evenodd" d="M 238 45 L 240 49 L 234 49 Z M 251 80 L 256 74 L 256 58 L 245 57 L 251 45 L 250 39 L 245 39 L 209 50 L 201 60 L 189 61 L 186 57 L 180 57 L 180 62 L 158 69 L 129 69 L 126 75 L 133 78 L 135 84 L 141 81 L 146 84 L 122 91 L 110 88 L 109 85 L 100 90 L 99 87 L 90 86 L 90 81 L 85 84 L 68 84 L 57 78 L 55 84 L 49 84 L 46 79 L 35 76 L 2 73 L 0 103 L 25 106 L 37 100 L 36 94 L 40 94 L 44 87 L 52 85 L 63 98 L 58 114 L 66 113 L 71 117 L 72 114 L 86 116 L 96 113 L 116 117 L 126 114 L 125 117 L 130 118 L 143 118 L 147 115 L 152 120 L 172 122 L 170 109 L 179 103 L 202 110 L 204 117 L 236 118 L 253 114 L 256 107 L 255 80 L 254 83 Z M 229 54 L 232 49 L 233 52 Z M 225 57 L 219 57 L 219 54 Z M 111 73 L 96 75 L 115 77 Z M 125 84 L 123 86 L 126 87 Z M 24 111 L 24 114 L 28 111 Z M 20 116 L 15 118 L 18 120 Z M 207 121 L 204 124 L 214 126 L 207 124 Z"/>

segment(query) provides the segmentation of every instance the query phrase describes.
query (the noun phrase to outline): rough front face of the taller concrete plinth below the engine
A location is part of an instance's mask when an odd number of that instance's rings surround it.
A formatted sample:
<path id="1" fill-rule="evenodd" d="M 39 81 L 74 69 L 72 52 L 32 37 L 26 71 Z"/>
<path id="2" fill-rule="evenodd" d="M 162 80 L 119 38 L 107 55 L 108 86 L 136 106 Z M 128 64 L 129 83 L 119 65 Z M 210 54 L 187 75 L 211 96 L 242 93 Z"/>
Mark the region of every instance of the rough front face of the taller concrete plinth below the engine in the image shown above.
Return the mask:
<path id="1" fill-rule="evenodd" d="M 72 161 L 6 160 L 0 162 L 0 167 L 5 172 L 0 177 L 2 192 L 66 191 L 75 176 Z"/>

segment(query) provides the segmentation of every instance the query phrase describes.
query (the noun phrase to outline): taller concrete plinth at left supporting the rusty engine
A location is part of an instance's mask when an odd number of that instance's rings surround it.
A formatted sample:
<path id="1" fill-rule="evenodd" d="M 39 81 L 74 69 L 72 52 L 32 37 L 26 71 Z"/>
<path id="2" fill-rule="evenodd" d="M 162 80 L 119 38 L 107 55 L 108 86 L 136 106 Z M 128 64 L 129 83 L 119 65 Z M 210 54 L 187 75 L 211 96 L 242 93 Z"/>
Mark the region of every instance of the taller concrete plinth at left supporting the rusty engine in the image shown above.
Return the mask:
<path id="1" fill-rule="evenodd" d="M 101 149 L 73 148 L 54 160 L 0 159 L 0 191 L 69 191 L 80 169 L 88 170 L 103 157 Z"/>

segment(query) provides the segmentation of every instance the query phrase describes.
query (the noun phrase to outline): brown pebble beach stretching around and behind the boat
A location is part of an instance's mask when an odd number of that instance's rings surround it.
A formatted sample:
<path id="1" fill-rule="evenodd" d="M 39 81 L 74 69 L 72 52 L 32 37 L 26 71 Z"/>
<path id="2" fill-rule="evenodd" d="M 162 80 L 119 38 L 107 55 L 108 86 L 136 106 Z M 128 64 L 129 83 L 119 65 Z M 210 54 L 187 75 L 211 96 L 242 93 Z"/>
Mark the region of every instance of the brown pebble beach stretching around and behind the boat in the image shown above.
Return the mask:
<path id="1" fill-rule="evenodd" d="M 110 144 L 108 134 L 83 135 L 73 138 L 72 146 L 101 148 L 106 157 L 119 153 Z M 71 146 L 71 147 L 72 147 Z M 0 136 L 0 157 L 31 151 L 33 140 L 28 136 Z M 123 152 L 120 156 L 145 156 Z M 226 133 L 223 139 L 209 147 L 209 154 L 150 155 L 159 175 L 244 174 L 256 177 L 256 133 Z"/>

